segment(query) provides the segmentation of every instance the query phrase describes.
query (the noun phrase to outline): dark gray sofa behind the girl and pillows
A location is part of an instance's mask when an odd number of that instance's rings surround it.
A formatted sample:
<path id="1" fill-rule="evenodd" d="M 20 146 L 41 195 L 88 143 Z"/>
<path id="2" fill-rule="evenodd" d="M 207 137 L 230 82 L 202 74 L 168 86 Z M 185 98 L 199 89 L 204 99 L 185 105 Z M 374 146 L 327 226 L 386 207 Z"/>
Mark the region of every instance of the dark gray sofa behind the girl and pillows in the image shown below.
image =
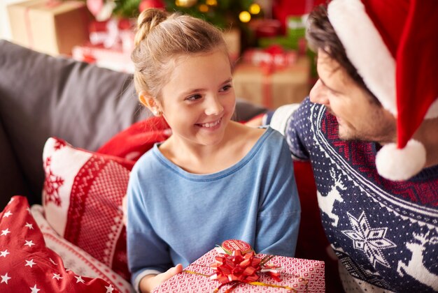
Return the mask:
<path id="1" fill-rule="evenodd" d="M 236 119 L 264 111 L 238 100 Z M 41 204 L 48 137 L 96 151 L 147 117 L 132 75 L 0 40 L 0 211 L 13 195 Z"/>

